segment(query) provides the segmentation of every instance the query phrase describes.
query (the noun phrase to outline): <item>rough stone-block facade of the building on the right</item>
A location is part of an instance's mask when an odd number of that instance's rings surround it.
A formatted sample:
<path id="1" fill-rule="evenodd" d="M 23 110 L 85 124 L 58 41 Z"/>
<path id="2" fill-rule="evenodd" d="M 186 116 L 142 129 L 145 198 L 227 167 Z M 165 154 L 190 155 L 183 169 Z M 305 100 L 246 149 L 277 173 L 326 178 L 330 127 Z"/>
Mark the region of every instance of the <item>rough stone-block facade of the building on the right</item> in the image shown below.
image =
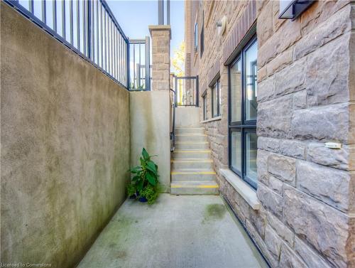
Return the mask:
<path id="1" fill-rule="evenodd" d="M 279 20 L 278 4 L 203 2 L 209 23 L 196 74 L 201 93 L 221 75 L 221 118 L 204 123 L 220 191 L 272 267 L 354 267 L 354 4 L 317 1 L 296 21 Z M 253 23 L 254 8 L 261 210 L 251 209 L 219 174 L 228 166 L 225 52 L 243 37 L 235 29 L 243 33 Z M 224 15 L 220 37 L 215 25 Z M 339 141 L 342 149 L 327 149 L 324 141 Z"/>

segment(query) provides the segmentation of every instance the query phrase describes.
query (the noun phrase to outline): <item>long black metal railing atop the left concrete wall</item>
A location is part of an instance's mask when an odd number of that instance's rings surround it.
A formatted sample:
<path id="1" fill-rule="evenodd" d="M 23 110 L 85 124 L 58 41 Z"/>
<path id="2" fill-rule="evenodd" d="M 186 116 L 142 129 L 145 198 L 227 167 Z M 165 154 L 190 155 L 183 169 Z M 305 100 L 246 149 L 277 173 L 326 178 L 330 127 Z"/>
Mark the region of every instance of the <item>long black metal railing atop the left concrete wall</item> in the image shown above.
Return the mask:
<path id="1" fill-rule="evenodd" d="M 129 88 L 129 38 L 104 0 L 4 0 Z"/>

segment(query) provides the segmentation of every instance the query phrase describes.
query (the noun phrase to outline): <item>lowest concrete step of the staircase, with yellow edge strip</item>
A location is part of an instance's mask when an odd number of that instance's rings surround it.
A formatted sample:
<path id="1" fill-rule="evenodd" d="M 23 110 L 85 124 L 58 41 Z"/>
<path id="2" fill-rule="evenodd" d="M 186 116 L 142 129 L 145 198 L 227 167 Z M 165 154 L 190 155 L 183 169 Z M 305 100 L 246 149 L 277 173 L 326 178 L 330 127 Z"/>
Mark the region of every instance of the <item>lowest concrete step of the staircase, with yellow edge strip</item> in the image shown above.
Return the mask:
<path id="1" fill-rule="evenodd" d="M 172 181 L 173 195 L 218 195 L 218 185 L 214 181 Z"/>

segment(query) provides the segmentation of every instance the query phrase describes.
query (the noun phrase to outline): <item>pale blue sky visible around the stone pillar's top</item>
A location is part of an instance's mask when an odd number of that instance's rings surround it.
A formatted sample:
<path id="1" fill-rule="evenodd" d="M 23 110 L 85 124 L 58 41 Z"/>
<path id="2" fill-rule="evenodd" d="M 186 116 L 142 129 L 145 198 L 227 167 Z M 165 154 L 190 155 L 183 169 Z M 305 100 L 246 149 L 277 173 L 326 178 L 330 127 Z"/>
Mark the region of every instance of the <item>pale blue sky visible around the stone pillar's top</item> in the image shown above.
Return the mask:
<path id="1" fill-rule="evenodd" d="M 158 0 L 107 0 L 107 4 L 129 38 L 150 36 L 148 26 L 158 24 Z M 185 38 L 184 1 L 170 1 L 170 26 L 170 56 L 173 57 L 174 50 Z"/>

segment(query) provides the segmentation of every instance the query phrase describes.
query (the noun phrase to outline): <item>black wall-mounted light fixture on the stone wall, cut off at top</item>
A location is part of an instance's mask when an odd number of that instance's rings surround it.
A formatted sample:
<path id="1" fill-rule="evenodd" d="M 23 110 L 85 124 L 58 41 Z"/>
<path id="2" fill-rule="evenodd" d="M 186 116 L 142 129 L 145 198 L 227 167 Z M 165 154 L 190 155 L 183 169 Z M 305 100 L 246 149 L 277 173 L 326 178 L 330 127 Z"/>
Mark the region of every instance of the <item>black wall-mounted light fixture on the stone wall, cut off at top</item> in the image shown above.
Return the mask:
<path id="1" fill-rule="evenodd" d="M 295 21 L 314 2 L 312 0 L 280 0 L 280 15 L 278 18 L 290 18 Z"/>

